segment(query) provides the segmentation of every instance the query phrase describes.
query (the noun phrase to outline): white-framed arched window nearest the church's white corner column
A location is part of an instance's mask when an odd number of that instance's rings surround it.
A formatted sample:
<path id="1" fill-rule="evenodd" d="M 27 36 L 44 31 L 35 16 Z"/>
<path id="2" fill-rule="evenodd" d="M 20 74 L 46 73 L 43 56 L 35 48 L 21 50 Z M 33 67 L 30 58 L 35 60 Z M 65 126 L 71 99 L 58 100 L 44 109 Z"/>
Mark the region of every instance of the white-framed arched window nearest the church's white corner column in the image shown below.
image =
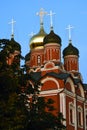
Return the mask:
<path id="1" fill-rule="evenodd" d="M 69 103 L 69 122 L 70 124 L 75 124 L 75 107 L 72 102 Z"/>

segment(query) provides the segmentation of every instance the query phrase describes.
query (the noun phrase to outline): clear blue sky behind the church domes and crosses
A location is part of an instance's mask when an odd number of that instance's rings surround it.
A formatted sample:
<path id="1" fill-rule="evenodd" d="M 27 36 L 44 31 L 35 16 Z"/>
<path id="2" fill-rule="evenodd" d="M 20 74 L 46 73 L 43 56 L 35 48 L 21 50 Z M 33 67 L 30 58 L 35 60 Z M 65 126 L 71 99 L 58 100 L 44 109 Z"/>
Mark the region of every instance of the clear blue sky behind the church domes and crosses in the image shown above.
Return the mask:
<path id="1" fill-rule="evenodd" d="M 72 43 L 79 49 L 79 71 L 83 81 L 87 82 L 87 0 L 2 0 L 0 4 L 0 38 L 11 38 L 13 18 L 14 39 L 22 47 L 22 55 L 29 52 L 30 33 L 38 33 L 40 18 L 36 13 L 44 8 L 46 12 L 52 10 L 54 32 L 62 39 L 62 50 L 68 45 L 68 30 L 70 24 Z M 50 17 L 44 17 L 44 29 L 50 31 Z"/>

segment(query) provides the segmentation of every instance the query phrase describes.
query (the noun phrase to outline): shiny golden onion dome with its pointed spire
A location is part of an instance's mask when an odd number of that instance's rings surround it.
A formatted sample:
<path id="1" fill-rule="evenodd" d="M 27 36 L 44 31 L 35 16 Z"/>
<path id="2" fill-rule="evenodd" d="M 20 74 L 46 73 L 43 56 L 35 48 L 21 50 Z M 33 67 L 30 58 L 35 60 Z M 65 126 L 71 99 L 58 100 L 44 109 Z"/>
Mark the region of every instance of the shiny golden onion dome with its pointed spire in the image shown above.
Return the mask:
<path id="1" fill-rule="evenodd" d="M 43 24 L 40 27 L 40 31 L 38 34 L 34 35 L 30 39 L 30 48 L 31 49 L 37 49 L 37 48 L 43 48 L 43 39 L 47 34 L 44 31 Z"/>

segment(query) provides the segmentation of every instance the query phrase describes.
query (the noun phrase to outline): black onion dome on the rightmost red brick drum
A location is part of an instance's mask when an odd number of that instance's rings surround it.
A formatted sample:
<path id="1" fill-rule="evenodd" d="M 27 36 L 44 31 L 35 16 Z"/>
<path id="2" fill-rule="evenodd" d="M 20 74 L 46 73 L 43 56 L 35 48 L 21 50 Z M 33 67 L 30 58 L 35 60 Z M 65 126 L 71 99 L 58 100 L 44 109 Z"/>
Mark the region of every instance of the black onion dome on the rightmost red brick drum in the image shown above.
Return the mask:
<path id="1" fill-rule="evenodd" d="M 63 50 L 63 57 L 68 55 L 76 55 L 79 56 L 79 50 L 74 47 L 71 43 L 71 40 L 69 40 L 69 45 Z"/>

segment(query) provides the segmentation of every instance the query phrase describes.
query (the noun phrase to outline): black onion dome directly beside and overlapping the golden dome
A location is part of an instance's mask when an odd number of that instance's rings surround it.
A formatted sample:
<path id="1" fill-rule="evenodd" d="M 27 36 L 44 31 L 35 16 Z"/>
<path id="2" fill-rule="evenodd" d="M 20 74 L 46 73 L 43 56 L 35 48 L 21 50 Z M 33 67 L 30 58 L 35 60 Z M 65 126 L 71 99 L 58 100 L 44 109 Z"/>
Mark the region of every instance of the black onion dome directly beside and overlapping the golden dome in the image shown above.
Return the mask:
<path id="1" fill-rule="evenodd" d="M 44 45 L 48 43 L 58 43 L 61 45 L 61 38 L 57 34 L 55 34 L 53 30 L 51 30 L 50 33 L 45 36 L 43 42 Z"/>

